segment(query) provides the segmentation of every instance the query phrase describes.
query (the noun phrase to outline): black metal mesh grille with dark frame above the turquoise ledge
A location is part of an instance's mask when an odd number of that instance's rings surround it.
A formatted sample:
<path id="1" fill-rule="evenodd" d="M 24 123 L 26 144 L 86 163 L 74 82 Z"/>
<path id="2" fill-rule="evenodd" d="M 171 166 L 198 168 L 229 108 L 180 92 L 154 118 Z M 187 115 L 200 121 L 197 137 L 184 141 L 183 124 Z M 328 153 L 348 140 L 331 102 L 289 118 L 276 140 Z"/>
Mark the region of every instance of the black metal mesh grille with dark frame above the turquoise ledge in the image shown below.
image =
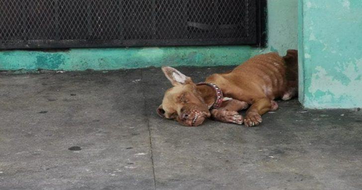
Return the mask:
<path id="1" fill-rule="evenodd" d="M 266 0 L 0 0 L 0 48 L 265 42 Z"/>

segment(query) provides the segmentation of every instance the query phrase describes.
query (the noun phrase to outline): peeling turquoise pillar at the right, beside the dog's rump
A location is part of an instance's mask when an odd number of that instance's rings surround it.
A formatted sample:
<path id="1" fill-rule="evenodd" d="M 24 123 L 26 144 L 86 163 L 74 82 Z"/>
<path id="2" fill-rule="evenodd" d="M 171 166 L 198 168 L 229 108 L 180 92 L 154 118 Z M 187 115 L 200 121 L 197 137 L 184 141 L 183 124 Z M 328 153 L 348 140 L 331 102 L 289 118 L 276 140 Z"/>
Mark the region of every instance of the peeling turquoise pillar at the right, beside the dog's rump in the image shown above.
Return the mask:
<path id="1" fill-rule="evenodd" d="M 301 102 L 362 106 L 362 0 L 300 0 Z"/>

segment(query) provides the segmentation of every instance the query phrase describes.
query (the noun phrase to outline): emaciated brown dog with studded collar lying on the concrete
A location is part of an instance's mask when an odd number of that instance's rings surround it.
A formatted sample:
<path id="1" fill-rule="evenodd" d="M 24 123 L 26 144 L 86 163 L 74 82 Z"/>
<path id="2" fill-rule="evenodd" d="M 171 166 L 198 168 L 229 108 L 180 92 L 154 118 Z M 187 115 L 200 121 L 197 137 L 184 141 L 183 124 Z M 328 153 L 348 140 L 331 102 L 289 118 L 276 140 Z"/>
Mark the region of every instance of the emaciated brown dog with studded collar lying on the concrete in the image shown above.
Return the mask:
<path id="1" fill-rule="evenodd" d="M 296 95 L 297 54 L 288 50 L 284 57 L 277 53 L 258 55 L 200 84 L 172 67 L 163 67 L 174 87 L 166 91 L 157 112 L 186 126 L 198 126 L 210 116 L 222 122 L 244 122 L 248 127 L 259 125 L 261 115 L 278 108 L 275 98 L 288 100 Z M 249 105 L 243 119 L 238 111 Z"/>

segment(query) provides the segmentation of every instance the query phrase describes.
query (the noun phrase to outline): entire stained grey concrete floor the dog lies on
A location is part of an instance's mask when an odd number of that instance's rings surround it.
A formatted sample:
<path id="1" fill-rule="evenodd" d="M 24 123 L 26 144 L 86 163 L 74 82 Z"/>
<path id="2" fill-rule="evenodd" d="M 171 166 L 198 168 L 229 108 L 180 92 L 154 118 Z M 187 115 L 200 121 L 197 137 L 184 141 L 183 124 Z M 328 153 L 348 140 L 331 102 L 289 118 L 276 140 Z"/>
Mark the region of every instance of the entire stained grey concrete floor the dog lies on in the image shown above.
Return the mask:
<path id="1" fill-rule="evenodd" d="M 362 189 L 362 111 L 291 100 L 260 127 L 183 127 L 155 113 L 169 87 L 160 69 L 1 73 L 0 190 Z"/>

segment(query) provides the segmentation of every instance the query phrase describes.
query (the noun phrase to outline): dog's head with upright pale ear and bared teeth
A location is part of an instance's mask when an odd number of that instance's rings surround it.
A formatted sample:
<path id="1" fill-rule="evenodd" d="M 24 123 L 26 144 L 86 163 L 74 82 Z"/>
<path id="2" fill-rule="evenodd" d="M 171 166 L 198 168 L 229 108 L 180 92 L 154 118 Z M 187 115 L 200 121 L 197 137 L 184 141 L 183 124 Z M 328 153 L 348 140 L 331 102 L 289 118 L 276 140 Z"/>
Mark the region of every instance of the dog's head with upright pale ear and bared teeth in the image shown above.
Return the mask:
<path id="1" fill-rule="evenodd" d="M 163 67 L 162 71 L 174 87 L 166 91 L 157 113 L 185 126 L 201 125 L 210 112 L 191 78 L 172 67 Z"/>

